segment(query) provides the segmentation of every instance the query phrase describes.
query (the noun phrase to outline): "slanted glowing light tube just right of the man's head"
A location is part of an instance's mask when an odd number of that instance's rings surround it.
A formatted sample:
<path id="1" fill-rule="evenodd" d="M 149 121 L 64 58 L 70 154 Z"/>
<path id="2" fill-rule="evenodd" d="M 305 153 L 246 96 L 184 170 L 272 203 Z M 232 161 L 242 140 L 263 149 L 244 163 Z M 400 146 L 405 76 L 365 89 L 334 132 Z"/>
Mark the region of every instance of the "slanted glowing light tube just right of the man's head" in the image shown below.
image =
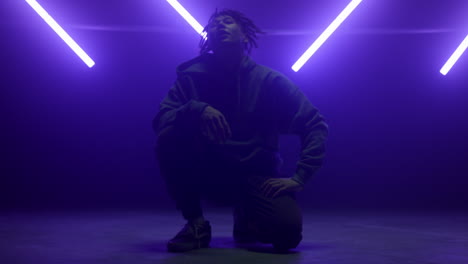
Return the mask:
<path id="1" fill-rule="evenodd" d="M 362 0 L 352 0 L 351 3 L 338 15 L 338 17 L 328 26 L 327 29 L 315 40 L 314 43 L 306 50 L 306 52 L 292 66 L 292 69 L 297 72 L 302 66 L 314 55 L 314 53 L 325 43 L 325 41 L 335 32 L 335 30 L 346 20 L 346 18 L 356 9 Z"/>

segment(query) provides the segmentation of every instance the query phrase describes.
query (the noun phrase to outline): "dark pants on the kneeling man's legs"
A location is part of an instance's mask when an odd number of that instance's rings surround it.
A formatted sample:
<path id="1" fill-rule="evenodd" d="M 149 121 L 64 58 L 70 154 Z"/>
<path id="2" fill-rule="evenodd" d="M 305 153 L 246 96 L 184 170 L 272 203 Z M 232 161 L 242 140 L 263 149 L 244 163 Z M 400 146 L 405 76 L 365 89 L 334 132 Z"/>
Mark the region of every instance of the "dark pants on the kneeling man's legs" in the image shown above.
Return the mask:
<path id="1" fill-rule="evenodd" d="M 295 248 L 301 241 L 302 213 L 294 195 L 268 198 L 260 191 L 266 179 L 279 176 L 276 169 L 228 162 L 222 155 L 213 155 L 209 143 L 197 133 L 172 127 L 158 136 L 156 157 L 169 195 L 185 219 L 203 215 L 200 201 L 205 198 L 244 212 L 247 225 L 261 242 Z"/>

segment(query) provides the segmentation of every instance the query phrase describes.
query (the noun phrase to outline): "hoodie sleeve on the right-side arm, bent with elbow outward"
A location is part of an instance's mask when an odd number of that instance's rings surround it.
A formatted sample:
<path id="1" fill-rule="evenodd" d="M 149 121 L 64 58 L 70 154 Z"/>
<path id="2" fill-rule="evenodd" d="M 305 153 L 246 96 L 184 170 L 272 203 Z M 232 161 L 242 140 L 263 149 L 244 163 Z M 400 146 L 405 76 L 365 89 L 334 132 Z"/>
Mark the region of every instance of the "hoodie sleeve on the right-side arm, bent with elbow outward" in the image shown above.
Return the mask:
<path id="1" fill-rule="evenodd" d="M 279 130 L 300 137 L 301 153 L 293 180 L 304 185 L 322 166 L 328 126 L 309 99 L 286 77 L 275 78 Z"/>

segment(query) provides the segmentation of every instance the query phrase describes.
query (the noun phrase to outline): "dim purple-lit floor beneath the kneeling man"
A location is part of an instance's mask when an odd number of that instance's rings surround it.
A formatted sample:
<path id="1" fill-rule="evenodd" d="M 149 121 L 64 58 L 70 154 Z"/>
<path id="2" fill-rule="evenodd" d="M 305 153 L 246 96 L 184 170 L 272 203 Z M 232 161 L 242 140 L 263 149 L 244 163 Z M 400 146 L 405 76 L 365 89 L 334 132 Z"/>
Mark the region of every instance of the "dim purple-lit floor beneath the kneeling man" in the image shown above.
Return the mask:
<path id="1" fill-rule="evenodd" d="M 176 211 L 0 213 L 0 263 L 467 264 L 468 212 L 306 211 L 288 254 L 236 248 L 229 210 L 212 209 L 211 248 L 168 253 L 184 224 Z"/>

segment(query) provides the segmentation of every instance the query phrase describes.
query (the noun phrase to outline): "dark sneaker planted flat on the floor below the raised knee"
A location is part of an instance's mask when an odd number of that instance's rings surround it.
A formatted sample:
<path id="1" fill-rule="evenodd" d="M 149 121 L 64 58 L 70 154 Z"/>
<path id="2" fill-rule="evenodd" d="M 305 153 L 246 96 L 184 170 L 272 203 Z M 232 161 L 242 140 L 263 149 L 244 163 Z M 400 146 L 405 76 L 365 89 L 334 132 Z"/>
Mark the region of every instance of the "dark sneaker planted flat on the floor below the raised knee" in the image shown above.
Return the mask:
<path id="1" fill-rule="evenodd" d="M 201 225 L 187 223 L 177 235 L 167 243 L 169 252 L 185 252 L 207 248 L 211 241 L 211 225 L 205 221 Z"/>

